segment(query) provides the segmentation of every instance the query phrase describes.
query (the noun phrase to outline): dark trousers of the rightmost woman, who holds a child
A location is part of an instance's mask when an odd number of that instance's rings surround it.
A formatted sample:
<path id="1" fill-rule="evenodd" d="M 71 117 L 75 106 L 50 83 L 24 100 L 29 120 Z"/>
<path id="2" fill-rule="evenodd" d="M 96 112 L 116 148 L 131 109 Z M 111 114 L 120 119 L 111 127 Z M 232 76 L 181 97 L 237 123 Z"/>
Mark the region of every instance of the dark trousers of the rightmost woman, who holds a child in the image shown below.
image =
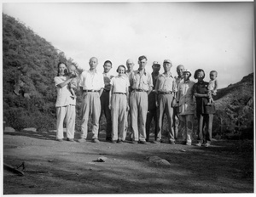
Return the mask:
<path id="1" fill-rule="evenodd" d="M 197 136 L 199 142 L 210 144 L 212 141 L 212 121 L 213 114 L 201 114 L 197 115 L 198 130 Z"/>

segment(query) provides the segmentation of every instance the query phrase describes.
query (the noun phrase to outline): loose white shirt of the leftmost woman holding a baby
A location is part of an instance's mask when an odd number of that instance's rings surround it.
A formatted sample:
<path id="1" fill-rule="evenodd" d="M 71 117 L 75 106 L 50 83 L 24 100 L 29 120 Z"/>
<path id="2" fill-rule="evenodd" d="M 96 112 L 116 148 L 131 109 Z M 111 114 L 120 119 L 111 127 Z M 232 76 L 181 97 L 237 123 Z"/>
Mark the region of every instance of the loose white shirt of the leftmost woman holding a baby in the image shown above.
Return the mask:
<path id="1" fill-rule="evenodd" d="M 55 107 L 64 107 L 69 104 L 75 105 L 76 99 L 72 98 L 72 93 L 68 89 L 68 86 L 58 87 L 58 84 L 65 82 L 68 76 L 55 76 L 55 87 L 57 88 L 57 99 Z"/>

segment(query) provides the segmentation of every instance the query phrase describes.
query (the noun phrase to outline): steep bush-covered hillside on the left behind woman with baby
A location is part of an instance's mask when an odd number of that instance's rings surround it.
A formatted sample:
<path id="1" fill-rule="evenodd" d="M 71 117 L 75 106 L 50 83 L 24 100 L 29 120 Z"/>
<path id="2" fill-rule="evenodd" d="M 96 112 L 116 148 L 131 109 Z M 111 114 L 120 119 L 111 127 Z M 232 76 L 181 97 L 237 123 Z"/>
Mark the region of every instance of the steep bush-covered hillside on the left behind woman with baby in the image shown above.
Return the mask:
<path id="1" fill-rule="evenodd" d="M 20 129 L 55 127 L 53 82 L 63 52 L 26 25 L 3 14 L 3 121 Z"/>

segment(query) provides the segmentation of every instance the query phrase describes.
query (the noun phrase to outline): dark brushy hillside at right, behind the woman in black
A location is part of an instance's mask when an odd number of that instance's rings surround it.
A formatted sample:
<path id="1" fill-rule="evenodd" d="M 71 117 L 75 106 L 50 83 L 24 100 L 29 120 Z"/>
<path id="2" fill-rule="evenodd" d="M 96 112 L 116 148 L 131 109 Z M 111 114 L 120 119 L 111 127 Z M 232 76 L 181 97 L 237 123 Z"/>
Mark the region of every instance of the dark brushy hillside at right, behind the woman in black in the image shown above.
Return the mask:
<path id="1" fill-rule="evenodd" d="M 253 73 L 218 90 L 213 131 L 225 138 L 253 138 Z"/>

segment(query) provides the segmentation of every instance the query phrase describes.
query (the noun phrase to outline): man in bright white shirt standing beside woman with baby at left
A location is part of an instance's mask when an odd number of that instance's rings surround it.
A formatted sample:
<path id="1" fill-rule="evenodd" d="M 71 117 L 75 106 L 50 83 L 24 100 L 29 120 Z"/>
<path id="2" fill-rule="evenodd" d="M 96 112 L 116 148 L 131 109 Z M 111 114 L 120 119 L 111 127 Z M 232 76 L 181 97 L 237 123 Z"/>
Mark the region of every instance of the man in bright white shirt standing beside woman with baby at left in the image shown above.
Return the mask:
<path id="1" fill-rule="evenodd" d="M 104 80 L 102 73 L 96 71 L 98 59 L 95 57 L 90 58 L 90 70 L 85 70 L 81 74 L 79 87 L 82 92 L 82 125 L 81 125 L 81 138 L 80 143 L 86 142 L 88 132 L 88 120 L 92 115 L 92 142 L 99 143 L 98 130 L 99 119 L 101 115 L 101 95 L 104 88 Z"/>

